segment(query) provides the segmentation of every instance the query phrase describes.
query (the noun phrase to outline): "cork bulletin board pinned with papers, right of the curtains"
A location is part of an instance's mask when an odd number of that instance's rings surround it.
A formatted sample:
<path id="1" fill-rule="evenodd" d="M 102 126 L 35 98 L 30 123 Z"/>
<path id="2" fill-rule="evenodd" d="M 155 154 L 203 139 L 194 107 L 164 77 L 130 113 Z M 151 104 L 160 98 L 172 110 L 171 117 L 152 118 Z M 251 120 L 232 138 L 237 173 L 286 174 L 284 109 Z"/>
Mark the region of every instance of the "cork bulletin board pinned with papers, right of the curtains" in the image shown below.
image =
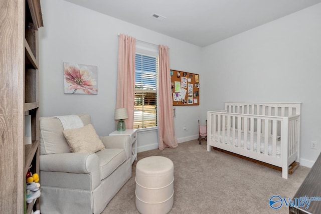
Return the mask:
<path id="1" fill-rule="evenodd" d="M 171 70 L 173 106 L 200 105 L 200 75 Z"/>

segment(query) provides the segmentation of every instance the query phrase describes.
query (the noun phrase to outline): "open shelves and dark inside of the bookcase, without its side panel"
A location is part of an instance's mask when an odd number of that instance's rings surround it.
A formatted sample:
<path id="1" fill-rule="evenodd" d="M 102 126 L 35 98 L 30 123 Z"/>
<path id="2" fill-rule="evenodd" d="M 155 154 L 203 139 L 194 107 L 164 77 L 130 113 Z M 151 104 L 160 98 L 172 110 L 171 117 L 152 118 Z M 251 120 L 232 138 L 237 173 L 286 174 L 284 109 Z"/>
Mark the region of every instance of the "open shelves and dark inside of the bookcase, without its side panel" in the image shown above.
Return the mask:
<path id="1" fill-rule="evenodd" d="M 24 113 L 31 115 L 32 143 L 25 145 L 25 168 L 39 174 L 39 47 L 38 29 L 43 26 L 39 0 L 25 0 L 25 101 Z M 36 204 L 36 207 L 34 208 Z M 27 214 L 40 209 L 39 199 L 27 205 Z"/>

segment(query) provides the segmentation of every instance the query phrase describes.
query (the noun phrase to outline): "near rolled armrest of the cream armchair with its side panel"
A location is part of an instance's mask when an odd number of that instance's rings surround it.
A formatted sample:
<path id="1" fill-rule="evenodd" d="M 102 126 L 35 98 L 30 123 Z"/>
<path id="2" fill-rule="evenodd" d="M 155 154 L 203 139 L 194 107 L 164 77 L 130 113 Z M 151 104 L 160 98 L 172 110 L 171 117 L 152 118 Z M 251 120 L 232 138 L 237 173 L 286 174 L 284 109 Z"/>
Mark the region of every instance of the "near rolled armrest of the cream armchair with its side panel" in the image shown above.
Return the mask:
<path id="1" fill-rule="evenodd" d="M 94 189 L 100 184 L 100 163 L 95 153 L 40 155 L 42 185 Z M 78 181 L 75 182 L 75 179 Z"/>

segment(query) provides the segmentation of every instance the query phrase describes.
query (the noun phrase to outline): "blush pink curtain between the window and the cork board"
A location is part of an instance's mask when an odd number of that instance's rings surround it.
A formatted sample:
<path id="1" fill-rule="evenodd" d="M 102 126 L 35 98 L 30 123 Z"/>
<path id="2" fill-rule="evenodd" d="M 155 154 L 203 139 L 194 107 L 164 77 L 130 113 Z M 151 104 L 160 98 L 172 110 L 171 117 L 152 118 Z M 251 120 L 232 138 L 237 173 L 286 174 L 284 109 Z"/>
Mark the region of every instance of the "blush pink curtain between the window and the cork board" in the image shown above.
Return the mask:
<path id="1" fill-rule="evenodd" d="M 171 73 L 169 47 L 159 45 L 158 47 L 158 139 L 159 149 L 178 146 L 174 133 L 174 113 L 171 90 Z"/>

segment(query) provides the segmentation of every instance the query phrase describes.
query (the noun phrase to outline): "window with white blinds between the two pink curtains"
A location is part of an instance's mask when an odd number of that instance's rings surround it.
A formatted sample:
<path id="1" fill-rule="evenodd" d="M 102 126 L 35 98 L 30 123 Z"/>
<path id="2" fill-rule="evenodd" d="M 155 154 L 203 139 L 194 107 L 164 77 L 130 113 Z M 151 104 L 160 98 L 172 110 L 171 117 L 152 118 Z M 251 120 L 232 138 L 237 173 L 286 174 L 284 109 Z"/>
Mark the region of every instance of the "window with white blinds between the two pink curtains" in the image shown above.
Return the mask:
<path id="1" fill-rule="evenodd" d="M 133 128 L 157 126 L 158 57 L 136 53 Z"/>

